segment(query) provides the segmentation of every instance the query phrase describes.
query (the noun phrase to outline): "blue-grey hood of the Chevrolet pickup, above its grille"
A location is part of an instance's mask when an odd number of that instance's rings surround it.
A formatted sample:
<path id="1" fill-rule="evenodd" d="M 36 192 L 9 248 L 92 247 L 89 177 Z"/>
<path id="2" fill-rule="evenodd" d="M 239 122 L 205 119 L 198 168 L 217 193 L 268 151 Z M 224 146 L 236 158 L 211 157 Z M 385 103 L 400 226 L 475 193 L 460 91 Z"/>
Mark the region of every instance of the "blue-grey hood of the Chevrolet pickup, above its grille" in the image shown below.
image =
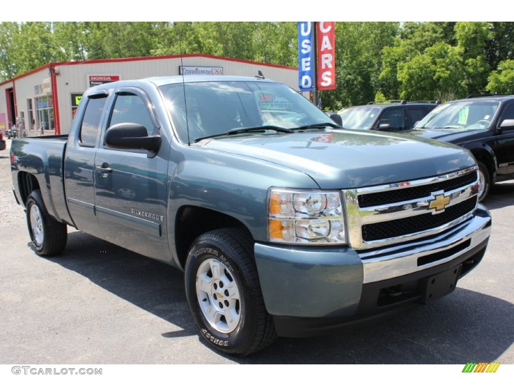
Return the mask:
<path id="1" fill-rule="evenodd" d="M 224 137 L 196 146 L 302 171 L 322 189 L 410 181 L 475 164 L 470 152 L 444 142 L 360 130 Z"/>

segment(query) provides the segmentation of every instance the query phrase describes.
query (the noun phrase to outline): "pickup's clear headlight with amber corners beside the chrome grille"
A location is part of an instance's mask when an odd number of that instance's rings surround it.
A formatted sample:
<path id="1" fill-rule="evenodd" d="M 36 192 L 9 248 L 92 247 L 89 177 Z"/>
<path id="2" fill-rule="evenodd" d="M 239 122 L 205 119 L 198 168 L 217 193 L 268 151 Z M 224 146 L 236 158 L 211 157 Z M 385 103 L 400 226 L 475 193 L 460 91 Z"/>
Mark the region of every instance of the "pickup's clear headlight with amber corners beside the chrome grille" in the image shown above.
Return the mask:
<path id="1" fill-rule="evenodd" d="M 289 244 L 346 243 L 340 192 L 269 189 L 268 239 Z"/>

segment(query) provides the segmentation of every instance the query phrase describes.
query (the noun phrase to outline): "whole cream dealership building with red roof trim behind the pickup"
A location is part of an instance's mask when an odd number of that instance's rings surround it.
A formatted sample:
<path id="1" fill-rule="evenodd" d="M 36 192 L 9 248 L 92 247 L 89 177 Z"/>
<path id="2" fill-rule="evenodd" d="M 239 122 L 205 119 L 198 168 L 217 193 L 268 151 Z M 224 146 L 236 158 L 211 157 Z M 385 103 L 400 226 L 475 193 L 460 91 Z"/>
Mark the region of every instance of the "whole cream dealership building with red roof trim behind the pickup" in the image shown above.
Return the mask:
<path id="1" fill-rule="evenodd" d="M 116 80 L 169 75 L 255 76 L 298 89 L 298 68 L 211 55 L 180 55 L 49 63 L 0 83 L 0 130 L 24 136 L 67 134 L 88 87 Z"/>

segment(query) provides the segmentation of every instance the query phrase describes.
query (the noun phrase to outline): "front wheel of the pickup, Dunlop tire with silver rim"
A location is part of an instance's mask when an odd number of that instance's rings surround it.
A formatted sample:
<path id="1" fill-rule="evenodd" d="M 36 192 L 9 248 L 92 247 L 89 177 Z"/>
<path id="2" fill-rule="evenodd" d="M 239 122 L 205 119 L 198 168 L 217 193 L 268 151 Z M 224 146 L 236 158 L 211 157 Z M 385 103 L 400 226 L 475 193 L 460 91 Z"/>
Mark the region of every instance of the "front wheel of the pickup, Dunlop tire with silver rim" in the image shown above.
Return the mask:
<path id="1" fill-rule="evenodd" d="M 243 356 L 275 340 L 253 259 L 253 240 L 246 232 L 230 228 L 199 236 L 189 250 L 185 271 L 189 308 L 208 345 Z"/>

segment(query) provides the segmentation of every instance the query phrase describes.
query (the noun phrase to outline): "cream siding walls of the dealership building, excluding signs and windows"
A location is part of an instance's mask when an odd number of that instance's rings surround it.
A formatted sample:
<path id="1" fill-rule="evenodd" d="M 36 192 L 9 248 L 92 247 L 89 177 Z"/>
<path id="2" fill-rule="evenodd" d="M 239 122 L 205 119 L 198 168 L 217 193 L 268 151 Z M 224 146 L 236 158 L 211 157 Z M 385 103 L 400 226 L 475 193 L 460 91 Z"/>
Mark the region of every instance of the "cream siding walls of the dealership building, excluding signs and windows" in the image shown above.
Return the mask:
<path id="1" fill-rule="evenodd" d="M 34 130 L 30 130 L 27 99 L 32 99 L 32 106 L 35 110 L 34 98 L 42 95 L 38 94 L 38 92 L 48 91 L 42 90 L 41 85 L 45 79 L 50 77 L 50 66 L 53 66 L 56 73 L 61 134 L 67 134 L 71 126 L 72 101 L 74 100 L 72 96 L 74 94 L 82 94 L 90 86 L 89 76 L 94 75 L 118 76 L 120 80 L 128 80 L 152 76 L 179 75 L 179 66 L 222 67 L 223 75 L 254 76 L 258 74 L 258 71 L 262 71 L 266 78 L 285 83 L 295 90 L 298 89 L 298 71 L 296 68 L 209 56 L 131 58 L 56 63 L 15 78 L 12 81 L 15 88 L 17 115 L 20 116 L 20 113 L 24 112 L 24 126 L 28 136 L 41 135 L 42 133 L 41 127 L 36 127 L 37 125 L 34 125 Z M 0 84 L 0 114 L 7 112 L 5 89 L 12 87 L 12 82 Z M 39 88 L 38 85 L 40 86 Z M 53 101 L 55 101 L 54 96 Z M 44 132 L 44 134 L 53 133 L 53 131 Z"/>

